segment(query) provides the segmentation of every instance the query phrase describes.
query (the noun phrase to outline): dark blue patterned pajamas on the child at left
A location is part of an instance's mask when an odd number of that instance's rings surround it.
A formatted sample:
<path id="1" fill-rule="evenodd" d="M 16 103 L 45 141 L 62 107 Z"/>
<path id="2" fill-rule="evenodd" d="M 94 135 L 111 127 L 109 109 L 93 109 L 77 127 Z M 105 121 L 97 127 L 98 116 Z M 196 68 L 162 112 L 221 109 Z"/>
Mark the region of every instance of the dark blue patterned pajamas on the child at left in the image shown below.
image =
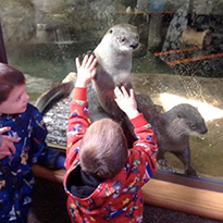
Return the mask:
<path id="1" fill-rule="evenodd" d="M 0 127 L 11 126 L 8 135 L 20 137 L 15 154 L 0 160 L 0 222 L 24 223 L 32 202 L 32 163 L 45 157 L 47 128 L 41 114 L 27 104 L 21 114 L 0 115 Z"/>

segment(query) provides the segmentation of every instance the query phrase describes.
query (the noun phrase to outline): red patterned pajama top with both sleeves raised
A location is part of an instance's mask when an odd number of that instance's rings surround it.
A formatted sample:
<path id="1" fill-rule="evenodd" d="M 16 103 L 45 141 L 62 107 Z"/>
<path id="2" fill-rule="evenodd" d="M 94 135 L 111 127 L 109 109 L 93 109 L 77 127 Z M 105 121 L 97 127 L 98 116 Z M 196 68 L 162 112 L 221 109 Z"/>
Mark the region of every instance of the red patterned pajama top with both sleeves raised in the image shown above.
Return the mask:
<path id="1" fill-rule="evenodd" d="M 89 126 L 86 88 L 75 88 L 67 126 L 67 150 L 64 188 L 69 195 L 67 211 L 72 222 L 143 222 L 144 198 L 141 187 L 157 170 L 157 139 L 151 125 L 143 114 L 131 120 L 137 140 L 129 149 L 125 166 L 112 178 L 101 182 L 92 194 L 79 198 L 72 194 L 79 169 L 79 143 Z M 119 154 L 117 154 L 119 156 Z"/>

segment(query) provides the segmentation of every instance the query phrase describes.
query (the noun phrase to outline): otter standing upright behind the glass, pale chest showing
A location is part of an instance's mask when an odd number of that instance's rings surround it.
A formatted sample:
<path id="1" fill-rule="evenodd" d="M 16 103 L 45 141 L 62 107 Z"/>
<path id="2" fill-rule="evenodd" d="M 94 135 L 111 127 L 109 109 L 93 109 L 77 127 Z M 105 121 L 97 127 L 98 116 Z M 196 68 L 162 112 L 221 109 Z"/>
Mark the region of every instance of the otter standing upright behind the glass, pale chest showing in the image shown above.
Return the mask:
<path id="1" fill-rule="evenodd" d="M 132 87 L 133 52 L 139 46 L 139 35 L 136 26 L 131 24 L 117 24 L 112 26 L 103 36 L 94 53 L 98 60 L 97 75 L 92 80 L 95 96 L 98 98 L 90 113 L 92 121 L 111 115 L 120 120 L 123 112 L 114 101 L 114 88 L 124 85 L 126 89 Z M 91 94 L 90 94 L 91 95 Z M 90 96 L 90 99 L 92 96 Z M 90 100 L 91 101 L 91 100 Z M 101 110 L 101 107 L 103 110 Z M 107 114 L 106 114 L 107 113 Z"/>

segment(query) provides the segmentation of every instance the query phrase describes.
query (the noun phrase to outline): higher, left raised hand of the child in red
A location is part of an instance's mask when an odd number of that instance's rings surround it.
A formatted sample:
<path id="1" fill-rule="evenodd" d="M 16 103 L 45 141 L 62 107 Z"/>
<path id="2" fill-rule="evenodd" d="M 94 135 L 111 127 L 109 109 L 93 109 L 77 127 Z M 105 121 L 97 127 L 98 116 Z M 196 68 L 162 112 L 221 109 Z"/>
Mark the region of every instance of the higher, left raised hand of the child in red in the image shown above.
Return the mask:
<path id="1" fill-rule="evenodd" d="M 87 53 L 80 64 L 79 58 L 76 58 L 77 79 L 75 87 L 86 87 L 97 73 L 97 58 Z"/>

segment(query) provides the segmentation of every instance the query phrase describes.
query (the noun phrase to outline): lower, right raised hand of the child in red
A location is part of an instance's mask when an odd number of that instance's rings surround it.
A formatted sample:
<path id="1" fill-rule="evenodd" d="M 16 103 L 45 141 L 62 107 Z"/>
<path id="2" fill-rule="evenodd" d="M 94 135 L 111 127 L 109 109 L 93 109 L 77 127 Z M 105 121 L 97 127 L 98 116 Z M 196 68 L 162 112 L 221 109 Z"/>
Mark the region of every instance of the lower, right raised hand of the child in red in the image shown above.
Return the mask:
<path id="1" fill-rule="evenodd" d="M 124 86 L 121 88 L 115 87 L 114 95 L 117 106 L 126 113 L 128 119 L 134 119 L 139 114 L 133 89 L 129 90 L 128 95 Z"/>

